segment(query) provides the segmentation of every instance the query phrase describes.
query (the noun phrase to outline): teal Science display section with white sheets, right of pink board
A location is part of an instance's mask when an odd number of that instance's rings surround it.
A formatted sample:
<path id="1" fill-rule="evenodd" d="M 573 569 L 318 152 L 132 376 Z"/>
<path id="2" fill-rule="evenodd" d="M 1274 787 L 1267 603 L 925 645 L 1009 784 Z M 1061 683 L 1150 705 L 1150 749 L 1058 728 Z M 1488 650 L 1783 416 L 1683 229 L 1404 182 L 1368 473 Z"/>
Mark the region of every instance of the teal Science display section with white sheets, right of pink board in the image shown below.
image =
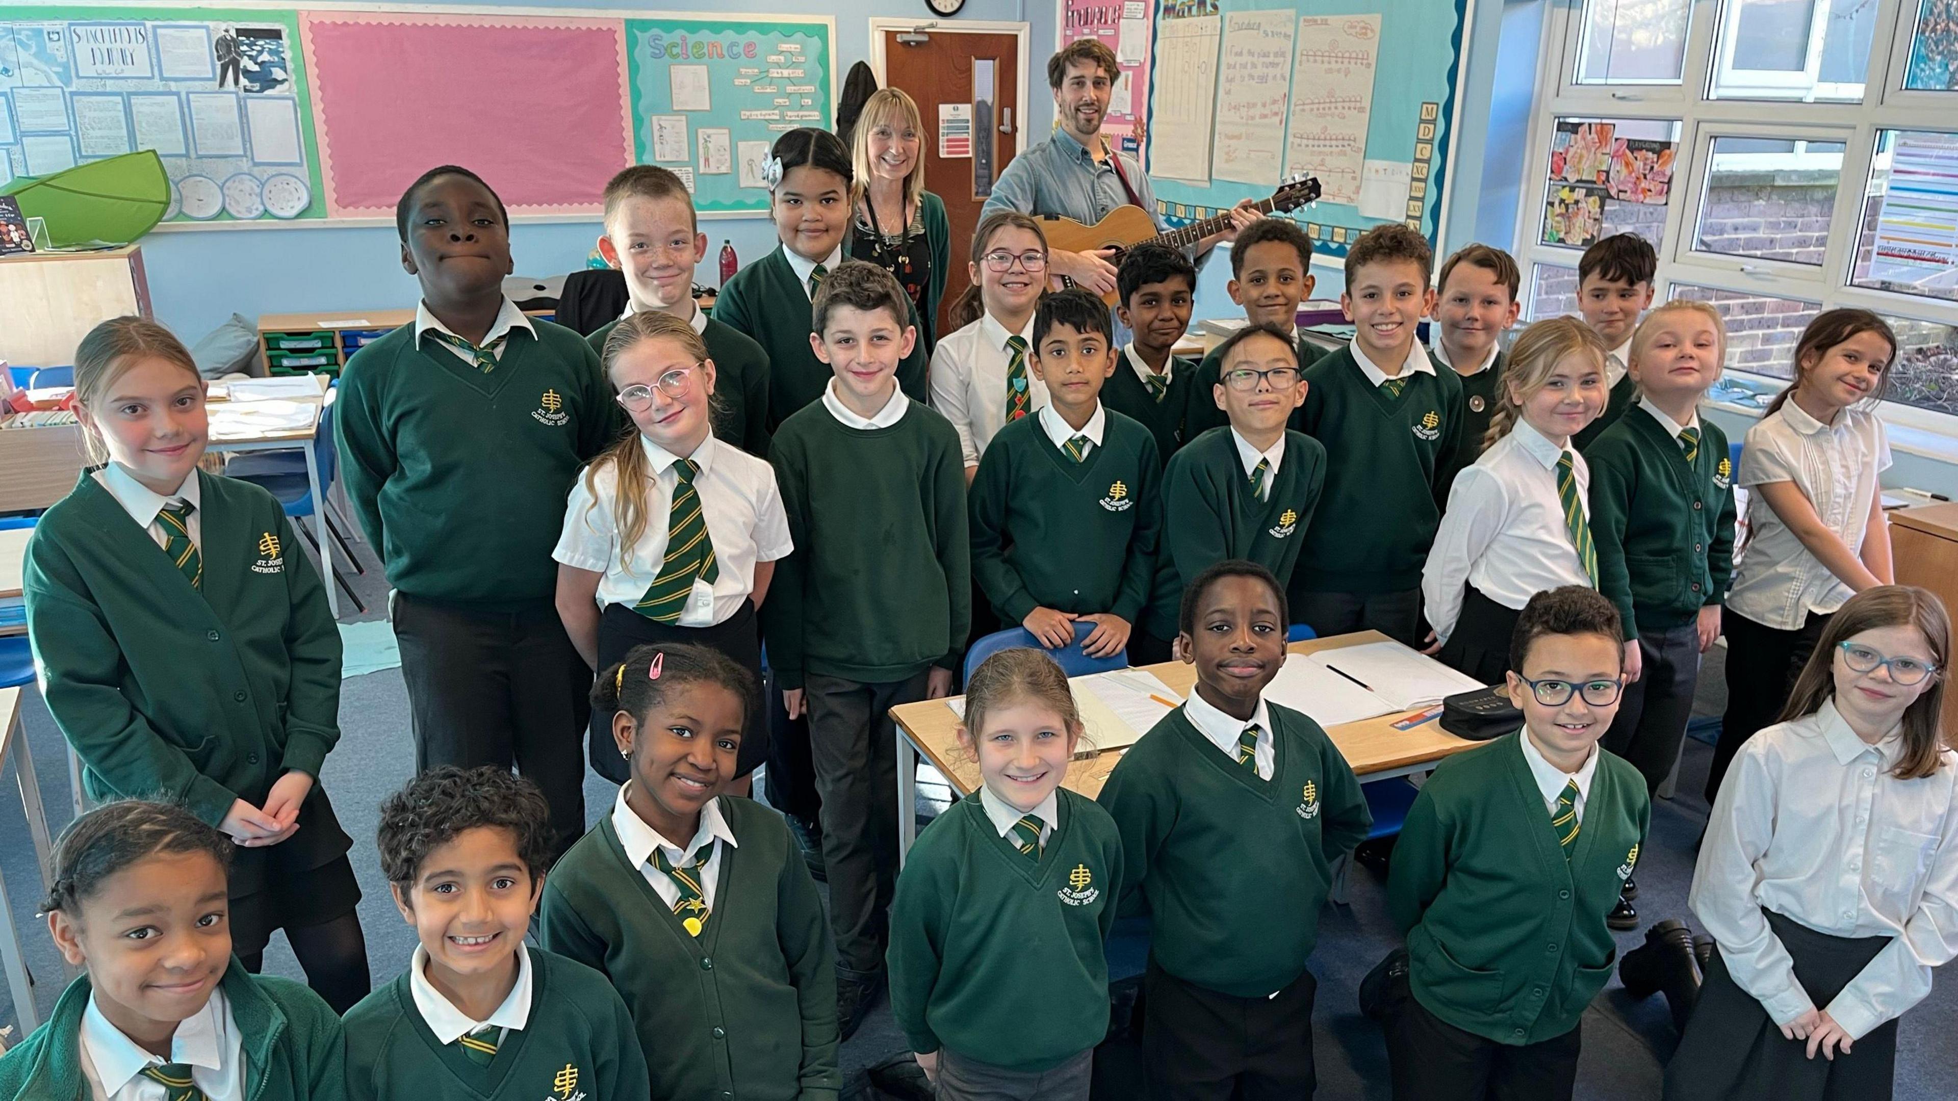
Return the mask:
<path id="1" fill-rule="evenodd" d="M 768 149 L 830 129 L 830 20 L 625 20 L 625 39 L 632 153 L 689 180 L 701 214 L 768 210 Z"/>

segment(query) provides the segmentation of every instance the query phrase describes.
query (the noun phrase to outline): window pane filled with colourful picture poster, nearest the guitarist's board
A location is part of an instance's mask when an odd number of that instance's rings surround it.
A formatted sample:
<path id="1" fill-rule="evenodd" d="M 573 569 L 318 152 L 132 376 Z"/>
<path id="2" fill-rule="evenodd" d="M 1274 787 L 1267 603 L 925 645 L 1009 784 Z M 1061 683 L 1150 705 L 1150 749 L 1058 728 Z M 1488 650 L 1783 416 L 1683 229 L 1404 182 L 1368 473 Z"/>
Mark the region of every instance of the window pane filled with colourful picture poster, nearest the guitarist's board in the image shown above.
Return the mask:
<path id="1" fill-rule="evenodd" d="M 1600 237 L 1637 233 L 1656 249 L 1678 143 L 1672 120 L 1557 120 L 1541 241 L 1584 249 Z"/>

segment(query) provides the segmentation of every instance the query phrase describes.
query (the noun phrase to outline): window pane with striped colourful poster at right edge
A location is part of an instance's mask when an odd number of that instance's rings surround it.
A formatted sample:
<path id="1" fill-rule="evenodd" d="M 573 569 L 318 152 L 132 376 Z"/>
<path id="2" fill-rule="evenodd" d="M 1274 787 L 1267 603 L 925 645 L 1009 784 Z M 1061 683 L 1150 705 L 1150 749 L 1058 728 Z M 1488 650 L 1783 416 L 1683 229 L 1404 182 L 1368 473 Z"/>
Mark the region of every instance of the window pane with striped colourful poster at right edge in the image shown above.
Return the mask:
<path id="1" fill-rule="evenodd" d="M 1958 133 L 1878 131 L 1850 282 L 1958 302 Z"/>

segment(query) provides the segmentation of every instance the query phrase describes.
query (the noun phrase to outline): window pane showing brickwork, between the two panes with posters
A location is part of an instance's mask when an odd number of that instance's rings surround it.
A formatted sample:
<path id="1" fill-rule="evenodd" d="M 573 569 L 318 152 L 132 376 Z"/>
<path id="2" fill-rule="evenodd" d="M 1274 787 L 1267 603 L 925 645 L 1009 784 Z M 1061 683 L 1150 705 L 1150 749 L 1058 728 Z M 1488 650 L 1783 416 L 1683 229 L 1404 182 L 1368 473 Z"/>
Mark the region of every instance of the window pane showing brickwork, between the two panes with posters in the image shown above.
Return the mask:
<path id="1" fill-rule="evenodd" d="M 1715 137 L 1694 247 L 1821 264 L 1841 174 L 1841 141 Z"/>

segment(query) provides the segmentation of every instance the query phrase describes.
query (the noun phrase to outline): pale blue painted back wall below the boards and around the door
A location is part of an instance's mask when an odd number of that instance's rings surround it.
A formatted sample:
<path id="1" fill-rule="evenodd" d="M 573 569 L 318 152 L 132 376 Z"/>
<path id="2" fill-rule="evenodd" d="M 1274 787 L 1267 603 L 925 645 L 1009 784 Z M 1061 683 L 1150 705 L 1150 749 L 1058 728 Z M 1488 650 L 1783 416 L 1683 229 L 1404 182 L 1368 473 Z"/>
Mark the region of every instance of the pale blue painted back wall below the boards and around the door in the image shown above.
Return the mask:
<path id="1" fill-rule="evenodd" d="M 609 8 L 627 12 L 713 10 L 717 14 L 807 12 L 797 0 L 689 0 L 609 2 L 609 0 L 525 0 L 497 4 L 478 0 L 470 10 L 525 8 Z M 869 61 L 869 18 L 889 16 L 926 22 L 918 0 L 848 0 L 836 8 L 836 72 L 832 86 L 856 61 Z M 969 0 L 957 20 L 1026 22 L 1032 25 L 1028 51 L 1036 71 L 1053 51 L 1053 0 Z M 1053 123 L 1053 100 L 1036 72 L 1026 96 L 1026 121 L 1044 133 Z M 433 165 L 429 165 L 433 167 Z M 472 165 L 484 170 L 482 165 Z M 719 282 L 721 243 L 732 241 L 740 261 L 760 259 L 775 247 L 773 225 L 766 217 L 705 219 L 707 261 L 699 280 Z M 566 223 L 517 223 L 511 253 L 517 274 L 564 274 L 585 266 L 597 237 L 597 219 Z M 143 239 L 157 319 L 196 341 L 231 313 L 247 319 L 258 313 L 327 310 L 358 315 L 415 302 L 415 280 L 401 270 L 401 247 L 394 227 L 307 227 L 307 229 L 192 229 L 159 231 Z"/>

